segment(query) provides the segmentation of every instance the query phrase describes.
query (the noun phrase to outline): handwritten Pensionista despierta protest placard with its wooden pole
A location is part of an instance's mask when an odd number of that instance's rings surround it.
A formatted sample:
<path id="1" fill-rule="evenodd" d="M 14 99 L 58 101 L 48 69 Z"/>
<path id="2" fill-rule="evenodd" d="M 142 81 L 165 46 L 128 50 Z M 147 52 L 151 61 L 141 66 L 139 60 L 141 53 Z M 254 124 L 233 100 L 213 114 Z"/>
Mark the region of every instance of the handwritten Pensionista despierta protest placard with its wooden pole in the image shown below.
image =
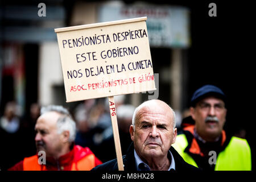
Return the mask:
<path id="1" fill-rule="evenodd" d="M 55 28 L 67 102 L 108 97 L 123 170 L 114 96 L 156 90 L 147 17 Z"/>

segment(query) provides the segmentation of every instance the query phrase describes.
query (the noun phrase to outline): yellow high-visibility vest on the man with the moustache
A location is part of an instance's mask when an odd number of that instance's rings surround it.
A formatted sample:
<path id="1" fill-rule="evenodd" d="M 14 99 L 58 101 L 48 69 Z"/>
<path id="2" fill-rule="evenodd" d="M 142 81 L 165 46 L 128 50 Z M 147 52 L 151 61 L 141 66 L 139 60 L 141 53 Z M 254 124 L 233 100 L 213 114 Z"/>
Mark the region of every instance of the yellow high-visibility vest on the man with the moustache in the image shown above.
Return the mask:
<path id="1" fill-rule="evenodd" d="M 185 162 L 197 166 L 195 160 L 187 152 L 188 146 L 185 134 L 177 135 L 176 142 L 172 144 Z M 250 171 L 251 170 L 251 150 L 246 139 L 232 137 L 225 150 L 217 156 L 215 171 Z"/>

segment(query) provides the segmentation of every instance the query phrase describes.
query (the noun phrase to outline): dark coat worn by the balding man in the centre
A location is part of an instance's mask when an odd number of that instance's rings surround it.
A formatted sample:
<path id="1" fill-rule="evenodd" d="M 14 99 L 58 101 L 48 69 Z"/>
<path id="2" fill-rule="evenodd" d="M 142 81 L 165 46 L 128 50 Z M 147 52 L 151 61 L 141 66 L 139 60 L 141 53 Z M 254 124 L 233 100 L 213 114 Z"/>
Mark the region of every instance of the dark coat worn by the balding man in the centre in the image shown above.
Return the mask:
<path id="1" fill-rule="evenodd" d="M 174 147 L 170 148 L 172 155 L 175 160 L 175 171 L 201 171 L 199 168 L 192 166 L 191 164 L 186 163 L 183 158 L 178 154 L 178 152 L 174 149 Z M 127 172 L 137 171 L 135 158 L 134 158 L 134 144 L 131 143 L 127 155 L 123 155 L 123 165 L 124 169 Z M 110 160 L 104 164 L 96 166 L 92 169 L 92 171 L 118 171 L 117 159 Z"/>

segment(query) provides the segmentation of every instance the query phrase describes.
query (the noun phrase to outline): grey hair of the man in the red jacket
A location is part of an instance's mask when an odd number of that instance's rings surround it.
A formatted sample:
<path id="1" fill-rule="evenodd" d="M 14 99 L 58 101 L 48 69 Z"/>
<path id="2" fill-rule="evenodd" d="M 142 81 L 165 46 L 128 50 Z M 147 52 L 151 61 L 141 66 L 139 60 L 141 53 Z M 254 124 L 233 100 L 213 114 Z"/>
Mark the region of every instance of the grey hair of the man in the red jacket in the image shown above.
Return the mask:
<path id="1" fill-rule="evenodd" d="M 49 105 L 42 107 L 41 115 L 55 111 L 61 114 L 61 117 L 57 120 L 57 133 L 61 134 L 63 131 L 69 131 L 69 142 L 73 142 L 76 138 L 76 123 L 73 121 L 68 109 L 63 106 Z"/>

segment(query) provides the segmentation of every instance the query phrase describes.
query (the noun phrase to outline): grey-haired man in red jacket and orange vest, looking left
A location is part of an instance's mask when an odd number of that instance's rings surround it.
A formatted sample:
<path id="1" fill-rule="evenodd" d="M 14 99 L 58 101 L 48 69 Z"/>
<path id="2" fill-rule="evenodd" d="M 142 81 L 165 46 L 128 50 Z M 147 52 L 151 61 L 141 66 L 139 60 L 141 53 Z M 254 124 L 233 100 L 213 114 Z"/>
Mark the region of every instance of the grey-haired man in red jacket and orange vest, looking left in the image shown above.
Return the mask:
<path id="1" fill-rule="evenodd" d="M 89 171 L 101 164 L 88 147 L 75 145 L 76 123 L 62 106 L 43 107 L 35 132 L 38 154 L 24 158 L 9 170 Z"/>

